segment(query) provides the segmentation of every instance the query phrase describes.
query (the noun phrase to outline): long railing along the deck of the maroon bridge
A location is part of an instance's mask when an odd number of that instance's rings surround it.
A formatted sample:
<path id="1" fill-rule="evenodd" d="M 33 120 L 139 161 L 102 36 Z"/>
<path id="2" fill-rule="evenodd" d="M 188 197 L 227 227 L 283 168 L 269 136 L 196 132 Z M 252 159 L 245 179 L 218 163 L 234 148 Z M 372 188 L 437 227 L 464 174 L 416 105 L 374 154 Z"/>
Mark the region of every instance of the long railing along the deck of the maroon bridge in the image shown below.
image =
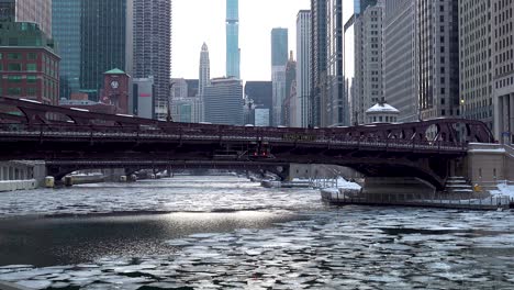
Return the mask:
<path id="1" fill-rule="evenodd" d="M 332 130 L 242 127 L 224 125 L 185 125 L 176 123 L 154 126 L 109 126 L 76 124 L 0 124 L 0 134 L 24 134 L 27 136 L 89 136 L 89 137 L 131 137 L 142 140 L 220 140 L 255 141 L 294 144 L 323 144 L 331 146 L 354 146 L 357 148 L 466 150 L 467 143 L 445 141 L 404 140 L 381 137 L 378 134 L 337 134 Z"/>

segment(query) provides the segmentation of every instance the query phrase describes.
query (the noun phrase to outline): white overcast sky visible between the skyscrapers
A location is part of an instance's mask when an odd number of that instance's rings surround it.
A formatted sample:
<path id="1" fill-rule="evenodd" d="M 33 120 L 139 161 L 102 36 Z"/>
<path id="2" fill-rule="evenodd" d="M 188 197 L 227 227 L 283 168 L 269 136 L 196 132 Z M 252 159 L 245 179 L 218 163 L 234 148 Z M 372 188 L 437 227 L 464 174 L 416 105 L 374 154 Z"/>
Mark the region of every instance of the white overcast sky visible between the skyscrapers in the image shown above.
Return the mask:
<path id="1" fill-rule="evenodd" d="M 172 1 L 172 77 L 198 78 L 200 49 L 209 46 L 211 78 L 225 75 L 226 0 Z M 297 51 L 297 14 L 310 0 L 239 0 L 241 75 L 271 78 L 271 29 L 289 29 L 289 49 Z M 295 53 L 294 53 L 295 54 Z"/>

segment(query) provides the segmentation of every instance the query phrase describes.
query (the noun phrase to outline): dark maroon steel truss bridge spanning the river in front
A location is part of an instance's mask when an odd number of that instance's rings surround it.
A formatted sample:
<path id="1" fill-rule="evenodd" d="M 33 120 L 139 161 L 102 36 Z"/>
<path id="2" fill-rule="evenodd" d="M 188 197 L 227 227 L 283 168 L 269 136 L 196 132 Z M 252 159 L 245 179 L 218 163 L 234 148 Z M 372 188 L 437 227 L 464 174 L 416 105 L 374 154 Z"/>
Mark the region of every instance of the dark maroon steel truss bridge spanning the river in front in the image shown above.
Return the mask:
<path id="1" fill-rule="evenodd" d="M 333 164 L 369 177 L 416 177 L 442 189 L 469 143 L 493 142 L 485 124 L 463 119 L 248 127 L 110 115 L 0 97 L 0 159 L 45 160 L 56 176 L 109 161 L 123 168 Z"/>

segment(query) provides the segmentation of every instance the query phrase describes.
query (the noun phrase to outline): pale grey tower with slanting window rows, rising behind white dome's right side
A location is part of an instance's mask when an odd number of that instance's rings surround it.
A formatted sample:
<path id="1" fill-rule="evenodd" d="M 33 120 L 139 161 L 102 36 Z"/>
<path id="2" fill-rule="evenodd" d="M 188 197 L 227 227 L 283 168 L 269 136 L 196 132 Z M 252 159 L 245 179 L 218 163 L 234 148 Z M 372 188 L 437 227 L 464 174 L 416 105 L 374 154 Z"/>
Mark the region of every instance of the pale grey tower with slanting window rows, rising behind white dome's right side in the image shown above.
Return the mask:
<path id="1" fill-rule="evenodd" d="M 416 3 L 388 0 L 383 20 L 383 96 L 399 122 L 418 120 Z M 439 27 L 440 29 L 440 27 Z"/>

